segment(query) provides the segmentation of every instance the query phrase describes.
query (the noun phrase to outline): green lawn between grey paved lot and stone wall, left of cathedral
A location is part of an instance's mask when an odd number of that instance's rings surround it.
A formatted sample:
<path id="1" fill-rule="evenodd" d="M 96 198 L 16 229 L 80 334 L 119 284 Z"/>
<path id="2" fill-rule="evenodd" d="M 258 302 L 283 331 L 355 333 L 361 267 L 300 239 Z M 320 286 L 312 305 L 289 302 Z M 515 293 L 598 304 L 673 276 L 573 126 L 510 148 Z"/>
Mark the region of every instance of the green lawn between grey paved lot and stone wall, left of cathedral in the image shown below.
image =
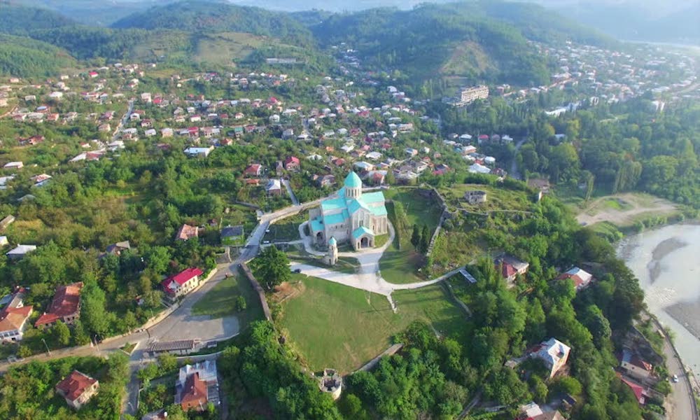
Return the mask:
<path id="1" fill-rule="evenodd" d="M 246 300 L 246 310 L 242 312 L 236 310 L 236 300 L 239 296 L 243 296 Z M 192 307 L 192 314 L 209 315 L 212 318 L 235 315 L 241 330 L 249 322 L 263 316 L 258 295 L 255 294 L 248 280 L 240 274 L 223 279 L 209 290 L 209 293 Z"/>

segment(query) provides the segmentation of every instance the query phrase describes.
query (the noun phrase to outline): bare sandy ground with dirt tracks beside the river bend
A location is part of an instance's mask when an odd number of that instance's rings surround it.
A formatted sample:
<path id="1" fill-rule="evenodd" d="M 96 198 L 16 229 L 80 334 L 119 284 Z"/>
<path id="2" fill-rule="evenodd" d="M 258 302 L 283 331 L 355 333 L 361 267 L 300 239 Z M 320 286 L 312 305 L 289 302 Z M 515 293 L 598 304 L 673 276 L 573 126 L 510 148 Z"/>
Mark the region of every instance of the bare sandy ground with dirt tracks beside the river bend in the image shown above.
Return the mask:
<path id="1" fill-rule="evenodd" d="M 581 225 L 610 222 L 617 226 L 626 226 L 633 224 L 641 214 L 661 216 L 671 214 L 675 210 L 675 204 L 659 197 L 624 193 L 594 200 L 576 216 L 576 220 Z"/>

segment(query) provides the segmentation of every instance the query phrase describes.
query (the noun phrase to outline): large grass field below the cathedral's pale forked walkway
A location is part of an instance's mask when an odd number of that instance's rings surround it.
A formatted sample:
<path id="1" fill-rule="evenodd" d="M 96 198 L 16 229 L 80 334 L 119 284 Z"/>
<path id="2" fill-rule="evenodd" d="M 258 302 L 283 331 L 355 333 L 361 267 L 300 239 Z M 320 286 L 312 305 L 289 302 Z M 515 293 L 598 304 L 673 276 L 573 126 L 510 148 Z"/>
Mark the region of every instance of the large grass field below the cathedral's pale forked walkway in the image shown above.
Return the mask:
<path id="1" fill-rule="evenodd" d="M 382 295 L 295 274 L 296 293 L 284 300 L 281 326 L 312 370 L 333 367 L 352 372 L 386 347 L 415 320 L 448 336 L 465 339 L 470 324 L 442 286 L 393 294 L 394 314 Z"/>

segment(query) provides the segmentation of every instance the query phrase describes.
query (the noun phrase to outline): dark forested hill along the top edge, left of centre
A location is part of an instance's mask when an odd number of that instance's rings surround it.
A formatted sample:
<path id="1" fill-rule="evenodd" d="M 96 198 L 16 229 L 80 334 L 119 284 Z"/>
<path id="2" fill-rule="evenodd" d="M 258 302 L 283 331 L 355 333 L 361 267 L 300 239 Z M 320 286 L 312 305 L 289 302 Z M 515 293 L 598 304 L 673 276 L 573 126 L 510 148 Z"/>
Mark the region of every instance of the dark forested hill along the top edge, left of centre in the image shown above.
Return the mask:
<path id="1" fill-rule="evenodd" d="M 188 32 L 248 32 L 298 46 L 313 43 L 311 31 L 288 13 L 215 1 L 181 1 L 156 6 L 114 22 L 113 28 L 178 29 Z"/>

